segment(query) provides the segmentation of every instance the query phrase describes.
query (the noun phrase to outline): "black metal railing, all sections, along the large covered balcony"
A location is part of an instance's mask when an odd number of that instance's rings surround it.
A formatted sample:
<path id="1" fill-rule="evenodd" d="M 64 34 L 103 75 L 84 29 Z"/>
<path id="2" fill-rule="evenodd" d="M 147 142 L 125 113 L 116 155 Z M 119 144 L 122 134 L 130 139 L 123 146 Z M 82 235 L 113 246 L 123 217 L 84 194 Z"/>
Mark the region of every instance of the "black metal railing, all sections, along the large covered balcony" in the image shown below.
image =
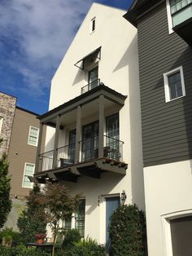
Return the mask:
<path id="1" fill-rule="evenodd" d="M 103 157 L 123 161 L 123 141 L 111 136 L 103 135 Z M 68 167 L 75 164 L 75 143 L 57 148 L 57 158 L 53 167 L 54 151 L 44 152 L 39 157 L 39 172 L 54 168 Z M 98 158 L 98 136 L 80 141 L 79 162 Z"/>

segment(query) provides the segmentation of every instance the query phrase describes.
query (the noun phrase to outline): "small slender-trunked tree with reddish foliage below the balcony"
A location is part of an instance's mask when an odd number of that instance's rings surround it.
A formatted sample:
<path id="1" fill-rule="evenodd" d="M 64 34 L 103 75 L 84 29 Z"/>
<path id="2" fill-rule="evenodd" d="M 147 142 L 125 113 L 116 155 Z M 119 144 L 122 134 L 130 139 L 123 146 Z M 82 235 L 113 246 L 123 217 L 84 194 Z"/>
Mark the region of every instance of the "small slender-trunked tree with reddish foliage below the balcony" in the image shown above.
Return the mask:
<path id="1" fill-rule="evenodd" d="M 59 224 L 65 218 L 72 216 L 79 203 L 80 195 L 71 196 L 68 188 L 61 183 L 46 183 L 41 196 L 47 221 L 54 236 L 52 255 L 55 255 L 55 240 L 59 232 Z"/>

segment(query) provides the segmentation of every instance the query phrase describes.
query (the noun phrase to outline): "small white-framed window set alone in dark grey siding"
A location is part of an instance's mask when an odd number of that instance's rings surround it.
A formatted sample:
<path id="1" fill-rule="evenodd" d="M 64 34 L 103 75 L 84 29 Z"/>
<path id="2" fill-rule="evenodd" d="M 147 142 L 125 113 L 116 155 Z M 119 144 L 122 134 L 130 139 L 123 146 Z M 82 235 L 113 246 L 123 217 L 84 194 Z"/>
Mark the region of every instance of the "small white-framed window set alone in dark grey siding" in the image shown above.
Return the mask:
<path id="1" fill-rule="evenodd" d="M 172 69 L 168 73 L 164 73 L 164 93 L 165 102 L 185 96 L 185 82 L 182 66 Z"/>

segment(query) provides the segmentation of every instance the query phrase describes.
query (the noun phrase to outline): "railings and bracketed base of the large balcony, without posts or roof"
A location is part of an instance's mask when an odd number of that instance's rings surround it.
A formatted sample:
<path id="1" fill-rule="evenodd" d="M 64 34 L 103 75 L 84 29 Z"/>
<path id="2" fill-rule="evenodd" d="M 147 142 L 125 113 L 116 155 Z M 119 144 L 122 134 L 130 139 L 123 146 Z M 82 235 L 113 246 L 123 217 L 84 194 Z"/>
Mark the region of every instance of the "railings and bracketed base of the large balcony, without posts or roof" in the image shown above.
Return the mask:
<path id="1" fill-rule="evenodd" d="M 124 142 L 107 135 L 103 135 L 103 141 L 102 157 L 98 157 L 98 136 L 80 141 L 77 163 L 75 163 L 75 144 L 57 148 L 55 166 L 54 150 L 41 153 L 36 179 L 41 183 L 45 183 L 47 179 L 76 182 L 82 175 L 99 179 L 100 174 L 106 171 L 125 174 L 127 164 L 123 161 Z"/>

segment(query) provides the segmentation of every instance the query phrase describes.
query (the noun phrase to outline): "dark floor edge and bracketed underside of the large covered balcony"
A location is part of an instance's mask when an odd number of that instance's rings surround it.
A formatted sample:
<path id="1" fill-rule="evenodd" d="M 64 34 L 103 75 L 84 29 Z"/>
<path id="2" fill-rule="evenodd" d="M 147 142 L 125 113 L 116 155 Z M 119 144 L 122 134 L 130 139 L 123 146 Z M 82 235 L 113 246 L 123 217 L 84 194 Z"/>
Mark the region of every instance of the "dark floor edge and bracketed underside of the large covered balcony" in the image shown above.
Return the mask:
<path id="1" fill-rule="evenodd" d="M 111 172 L 113 174 L 124 176 L 127 167 L 128 165 L 124 162 L 113 161 L 103 157 L 68 167 L 42 171 L 34 174 L 33 177 L 28 178 L 34 183 L 46 183 L 48 181 L 58 182 L 61 180 L 76 183 L 77 178 L 81 176 L 100 179 L 100 175 L 103 172 Z"/>

